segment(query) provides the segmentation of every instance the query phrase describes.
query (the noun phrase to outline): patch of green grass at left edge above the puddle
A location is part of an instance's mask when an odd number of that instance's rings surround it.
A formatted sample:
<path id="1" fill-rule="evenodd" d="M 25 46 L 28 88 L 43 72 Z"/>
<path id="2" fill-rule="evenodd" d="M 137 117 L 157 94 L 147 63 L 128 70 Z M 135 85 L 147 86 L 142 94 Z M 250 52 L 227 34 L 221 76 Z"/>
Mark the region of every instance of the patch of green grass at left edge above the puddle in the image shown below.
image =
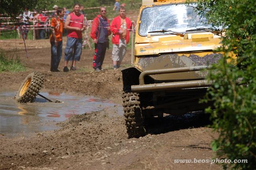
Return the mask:
<path id="1" fill-rule="evenodd" d="M 17 51 L 8 52 L 0 49 L 0 72 L 21 72 L 25 67 L 20 63 Z"/>

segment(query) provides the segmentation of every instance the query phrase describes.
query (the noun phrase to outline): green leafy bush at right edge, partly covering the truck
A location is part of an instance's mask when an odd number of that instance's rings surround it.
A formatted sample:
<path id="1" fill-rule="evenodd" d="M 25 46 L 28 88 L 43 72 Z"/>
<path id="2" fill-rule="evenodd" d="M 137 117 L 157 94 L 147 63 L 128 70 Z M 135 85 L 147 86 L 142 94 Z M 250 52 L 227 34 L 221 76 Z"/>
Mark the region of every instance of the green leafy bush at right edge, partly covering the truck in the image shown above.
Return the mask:
<path id="1" fill-rule="evenodd" d="M 232 161 L 248 161 L 224 164 L 224 169 L 256 169 L 256 1 L 198 0 L 197 10 L 213 26 L 226 28 L 219 49 L 225 55 L 208 74 L 213 86 L 204 100 L 212 100 L 215 107 L 206 109 L 219 132 L 213 150 Z"/>

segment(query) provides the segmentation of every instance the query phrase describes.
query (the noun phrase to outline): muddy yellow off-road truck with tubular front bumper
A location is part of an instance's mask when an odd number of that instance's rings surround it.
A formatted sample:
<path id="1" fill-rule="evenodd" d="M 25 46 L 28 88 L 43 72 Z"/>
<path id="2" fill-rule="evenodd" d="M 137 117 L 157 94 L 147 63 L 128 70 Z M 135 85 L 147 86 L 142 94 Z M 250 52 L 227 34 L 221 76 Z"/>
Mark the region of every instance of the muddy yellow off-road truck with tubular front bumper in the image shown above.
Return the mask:
<path id="1" fill-rule="evenodd" d="M 145 118 L 182 115 L 207 106 L 198 104 L 210 86 L 200 70 L 222 57 L 214 51 L 221 40 L 196 6 L 186 0 L 143 0 L 135 29 L 134 67 L 122 70 L 129 138 L 147 133 Z"/>

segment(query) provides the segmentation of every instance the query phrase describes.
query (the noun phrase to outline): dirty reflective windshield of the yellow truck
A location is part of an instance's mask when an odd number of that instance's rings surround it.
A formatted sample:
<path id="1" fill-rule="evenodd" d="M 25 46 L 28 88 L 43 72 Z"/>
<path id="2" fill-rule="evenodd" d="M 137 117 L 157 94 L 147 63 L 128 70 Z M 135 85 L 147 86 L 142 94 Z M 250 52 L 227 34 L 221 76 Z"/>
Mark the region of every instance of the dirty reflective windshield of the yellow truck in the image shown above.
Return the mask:
<path id="1" fill-rule="evenodd" d="M 139 34 L 147 35 L 148 32 L 156 30 L 185 32 L 186 30 L 197 30 L 197 28 L 211 28 L 207 19 L 197 13 L 196 6 L 197 4 L 173 4 L 145 8 L 141 17 Z M 161 34 L 164 33 L 166 32 Z"/>

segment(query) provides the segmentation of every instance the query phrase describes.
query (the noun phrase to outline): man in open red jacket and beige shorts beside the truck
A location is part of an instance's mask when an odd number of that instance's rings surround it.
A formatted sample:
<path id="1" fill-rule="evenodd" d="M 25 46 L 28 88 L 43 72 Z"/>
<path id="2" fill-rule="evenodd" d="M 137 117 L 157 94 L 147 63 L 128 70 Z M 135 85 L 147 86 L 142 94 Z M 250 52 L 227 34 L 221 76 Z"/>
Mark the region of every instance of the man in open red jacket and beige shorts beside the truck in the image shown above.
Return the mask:
<path id="1" fill-rule="evenodd" d="M 122 59 L 126 53 L 126 44 L 129 42 L 129 31 L 131 31 L 132 22 L 126 17 L 126 9 L 121 6 L 119 9 L 119 16 L 113 19 L 111 24 L 111 31 L 113 32 L 112 42 L 112 60 L 113 69 L 120 67 Z"/>

